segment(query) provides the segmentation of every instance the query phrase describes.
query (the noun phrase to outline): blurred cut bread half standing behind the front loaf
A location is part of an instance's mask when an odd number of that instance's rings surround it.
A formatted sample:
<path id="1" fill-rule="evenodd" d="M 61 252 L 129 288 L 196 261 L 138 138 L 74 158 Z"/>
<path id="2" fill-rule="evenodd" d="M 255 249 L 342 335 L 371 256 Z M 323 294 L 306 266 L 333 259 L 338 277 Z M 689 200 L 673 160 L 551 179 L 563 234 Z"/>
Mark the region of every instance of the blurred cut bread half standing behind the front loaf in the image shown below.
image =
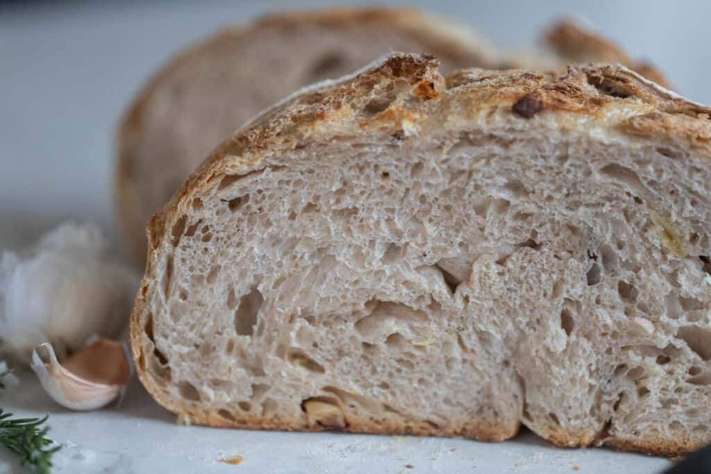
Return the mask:
<path id="1" fill-rule="evenodd" d="M 636 68 L 604 39 L 572 23 L 565 31 L 525 55 L 504 55 L 468 28 L 410 9 L 274 15 L 222 31 L 171 60 L 122 122 L 115 191 L 124 242 L 143 264 L 147 220 L 222 139 L 278 99 L 390 50 L 434 53 L 444 72 L 589 60 Z"/>

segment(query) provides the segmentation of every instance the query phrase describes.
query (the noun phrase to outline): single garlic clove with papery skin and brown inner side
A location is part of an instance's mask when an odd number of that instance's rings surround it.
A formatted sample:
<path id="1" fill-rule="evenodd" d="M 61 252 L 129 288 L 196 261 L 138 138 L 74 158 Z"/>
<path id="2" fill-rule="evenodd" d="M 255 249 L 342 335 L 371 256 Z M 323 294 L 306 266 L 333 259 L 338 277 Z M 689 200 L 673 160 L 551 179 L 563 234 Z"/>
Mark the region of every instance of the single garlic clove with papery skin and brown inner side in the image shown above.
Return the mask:
<path id="1" fill-rule="evenodd" d="M 32 352 L 32 370 L 47 394 L 73 410 L 95 410 L 119 397 L 131 377 L 127 348 L 118 341 L 98 339 L 65 360 L 57 360 L 52 345 L 41 344 L 49 362 Z"/>

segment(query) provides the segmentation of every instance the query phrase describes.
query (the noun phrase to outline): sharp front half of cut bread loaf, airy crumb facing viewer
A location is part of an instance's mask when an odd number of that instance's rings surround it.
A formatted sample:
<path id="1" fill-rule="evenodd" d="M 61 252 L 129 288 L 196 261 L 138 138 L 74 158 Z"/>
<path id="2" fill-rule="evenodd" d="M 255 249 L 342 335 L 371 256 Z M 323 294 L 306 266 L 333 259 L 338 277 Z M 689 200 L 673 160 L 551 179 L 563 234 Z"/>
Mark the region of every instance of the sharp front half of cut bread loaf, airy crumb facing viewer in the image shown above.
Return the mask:
<path id="1" fill-rule="evenodd" d="M 710 114 L 405 54 L 297 93 L 151 220 L 141 381 L 213 426 L 699 448 Z"/>

